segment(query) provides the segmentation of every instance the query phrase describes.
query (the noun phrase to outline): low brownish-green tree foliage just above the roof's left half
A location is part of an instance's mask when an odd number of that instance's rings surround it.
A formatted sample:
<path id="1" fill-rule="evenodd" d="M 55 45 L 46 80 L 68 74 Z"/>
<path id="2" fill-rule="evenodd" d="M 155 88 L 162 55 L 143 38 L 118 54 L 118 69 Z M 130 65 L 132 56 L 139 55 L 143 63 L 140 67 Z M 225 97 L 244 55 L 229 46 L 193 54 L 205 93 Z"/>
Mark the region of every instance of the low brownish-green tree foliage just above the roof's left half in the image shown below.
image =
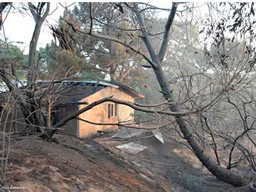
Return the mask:
<path id="1" fill-rule="evenodd" d="M 104 75 L 100 71 L 93 72 L 87 60 L 74 55 L 70 50 L 63 50 L 55 43 L 47 44 L 46 48 L 38 51 L 40 59 L 41 80 L 55 80 L 63 78 L 102 80 Z"/>

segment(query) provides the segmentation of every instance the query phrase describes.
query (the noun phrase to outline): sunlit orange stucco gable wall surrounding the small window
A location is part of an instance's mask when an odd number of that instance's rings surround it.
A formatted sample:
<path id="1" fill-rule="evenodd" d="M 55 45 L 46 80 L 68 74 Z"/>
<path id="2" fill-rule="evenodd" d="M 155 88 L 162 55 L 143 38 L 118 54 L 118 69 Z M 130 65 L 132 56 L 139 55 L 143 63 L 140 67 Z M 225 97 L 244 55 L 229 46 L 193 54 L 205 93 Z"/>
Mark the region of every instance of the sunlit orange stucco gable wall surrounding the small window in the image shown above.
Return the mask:
<path id="1" fill-rule="evenodd" d="M 127 95 L 125 92 L 122 92 L 114 87 L 106 87 L 95 94 L 86 97 L 85 99 L 81 100 L 80 102 L 95 102 L 96 100 L 100 100 L 103 97 L 110 97 L 114 95 L 114 98 L 119 100 L 126 100 L 130 102 L 134 102 L 134 97 Z M 102 103 L 101 105 L 97 105 L 96 107 L 92 108 L 91 110 L 84 112 L 79 115 L 79 118 L 85 119 L 90 122 L 95 123 L 117 123 L 123 122 L 130 119 L 134 119 L 134 110 L 131 107 L 125 105 L 118 105 L 118 117 L 107 117 L 107 105 L 110 102 Z M 80 109 L 85 107 L 86 105 L 80 105 Z M 78 127 L 78 135 L 79 137 L 87 137 L 90 134 L 96 133 L 98 130 L 102 131 L 111 131 L 117 129 L 117 126 L 113 125 L 96 125 L 96 124 L 89 124 L 87 122 L 79 121 Z"/>

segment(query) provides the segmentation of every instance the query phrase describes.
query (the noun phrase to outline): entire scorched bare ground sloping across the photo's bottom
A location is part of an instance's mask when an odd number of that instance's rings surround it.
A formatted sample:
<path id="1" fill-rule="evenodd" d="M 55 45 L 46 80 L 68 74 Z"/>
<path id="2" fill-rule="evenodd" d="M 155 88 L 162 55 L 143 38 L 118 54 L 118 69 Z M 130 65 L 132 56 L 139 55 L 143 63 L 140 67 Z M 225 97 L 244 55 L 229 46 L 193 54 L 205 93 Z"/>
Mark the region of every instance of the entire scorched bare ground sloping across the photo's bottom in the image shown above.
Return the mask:
<path id="1" fill-rule="evenodd" d="M 171 140 L 161 144 L 147 134 L 123 141 L 60 134 L 55 139 L 11 142 L 5 191 L 249 191 L 218 181 L 189 149 Z M 115 147 L 131 141 L 147 149 L 131 155 Z"/>

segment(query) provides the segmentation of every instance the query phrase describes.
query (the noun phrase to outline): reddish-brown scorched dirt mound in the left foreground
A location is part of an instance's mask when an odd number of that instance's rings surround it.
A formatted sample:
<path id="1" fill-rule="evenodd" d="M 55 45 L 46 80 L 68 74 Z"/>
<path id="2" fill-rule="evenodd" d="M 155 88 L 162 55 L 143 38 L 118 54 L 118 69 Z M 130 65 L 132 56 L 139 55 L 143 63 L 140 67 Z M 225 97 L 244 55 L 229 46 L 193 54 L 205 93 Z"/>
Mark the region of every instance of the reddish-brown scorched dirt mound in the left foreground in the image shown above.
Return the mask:
<path id="1" fill-rule="evenodd" d="M 104 146 L 57 136 L 58 144 L 23 139 L 11 147 L 6 188 L 15 191 L 171 191 Z"/>

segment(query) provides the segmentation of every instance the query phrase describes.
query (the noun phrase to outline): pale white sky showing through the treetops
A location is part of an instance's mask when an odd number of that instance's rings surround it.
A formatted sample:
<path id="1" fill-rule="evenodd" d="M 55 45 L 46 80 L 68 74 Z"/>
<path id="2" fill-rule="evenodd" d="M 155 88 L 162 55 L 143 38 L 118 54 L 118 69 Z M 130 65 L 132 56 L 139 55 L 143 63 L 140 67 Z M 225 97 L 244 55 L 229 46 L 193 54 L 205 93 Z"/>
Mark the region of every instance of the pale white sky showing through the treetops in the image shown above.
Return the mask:
<path id="1" fill-rule="evenodd" d="M 164 8 L 171 7 L 171 1 L 144 1 L 146 3 L 154 4 L 156 6 L 161 6 Z M 61 2 L 61 4 L 65 5 L 65 2 Z M 68 1 L 67 5 L 73 4 L 72 1 Z M 14 4 L 15 7 L 21 6 L 19 3 Z M 73 5 L 74 6 L 74 5 Z M 73 7 L 71 6 L 71 7 Z M 50 16 L 47 17 L 45 23 L 43 23 L 43 27 L 41 28 L 41 34 L 38 41 L 38 48 L 45 47 L 46 43 L 50 43 L 53 39 L 51 35 L 49 25 L 55 25 L 58 22 L 58 18 L 61 14 L 63 14 L 64 8 L 58 4 L 58 2 L 52 2 L 50 4 Z M 161 16 L 168 16 L 168 12 L 164 11 Z M 6 13 L 3 14 L 3 18 L 6 17 Z M 4 20 L 3 20 L 4 21 Z M 33 34 L 33 28 L 35 26 L 35 22 L 33 21 L 33 17 L 28 12 L 26 15 L 22 15 L 15 10 L 11 10 L 6 20 L 4 21 L 4 31 L 6 34 L 6 38 L 8 41 L 13 42 L 14 45 L 20 46 L 24 53 L 28 53 L 29 43 L 31 41 L 31 37 Z M 1 39 L 4 39 L 4 31 L 0 31 Z M 21 43 L 16 43 L 21 42 Z"/>

